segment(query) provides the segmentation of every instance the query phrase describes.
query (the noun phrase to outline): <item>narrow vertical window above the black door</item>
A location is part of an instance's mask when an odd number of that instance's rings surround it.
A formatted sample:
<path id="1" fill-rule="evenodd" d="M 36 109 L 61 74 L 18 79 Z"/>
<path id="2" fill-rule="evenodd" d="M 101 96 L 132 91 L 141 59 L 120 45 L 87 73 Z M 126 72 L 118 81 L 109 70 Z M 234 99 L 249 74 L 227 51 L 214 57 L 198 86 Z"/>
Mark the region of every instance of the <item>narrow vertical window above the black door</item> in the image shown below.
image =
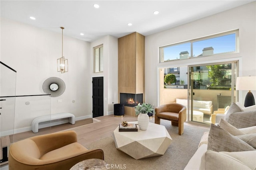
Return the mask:
<path id="1" fill-rule="evenodd" d="M 103 72 L 103 45 L 94 47 L 94 72 Z"/>

